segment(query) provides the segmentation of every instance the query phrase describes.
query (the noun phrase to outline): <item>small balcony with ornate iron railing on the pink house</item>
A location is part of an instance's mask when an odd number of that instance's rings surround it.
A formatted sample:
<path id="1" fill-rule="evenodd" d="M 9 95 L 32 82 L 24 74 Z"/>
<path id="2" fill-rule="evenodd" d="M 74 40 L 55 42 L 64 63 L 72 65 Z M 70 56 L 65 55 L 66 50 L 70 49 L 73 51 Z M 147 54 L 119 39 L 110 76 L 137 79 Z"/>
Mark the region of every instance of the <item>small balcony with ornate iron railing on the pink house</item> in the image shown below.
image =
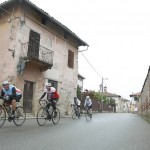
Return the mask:
<path id="1" fill-rule="evenodd" d="M 51 69 L 53 56 L 53 51 L 41 45 L 31 45 L 29 43 L 22 43 L 21 45 L 21 59 L 39 65 L 41 71 Z"/>

